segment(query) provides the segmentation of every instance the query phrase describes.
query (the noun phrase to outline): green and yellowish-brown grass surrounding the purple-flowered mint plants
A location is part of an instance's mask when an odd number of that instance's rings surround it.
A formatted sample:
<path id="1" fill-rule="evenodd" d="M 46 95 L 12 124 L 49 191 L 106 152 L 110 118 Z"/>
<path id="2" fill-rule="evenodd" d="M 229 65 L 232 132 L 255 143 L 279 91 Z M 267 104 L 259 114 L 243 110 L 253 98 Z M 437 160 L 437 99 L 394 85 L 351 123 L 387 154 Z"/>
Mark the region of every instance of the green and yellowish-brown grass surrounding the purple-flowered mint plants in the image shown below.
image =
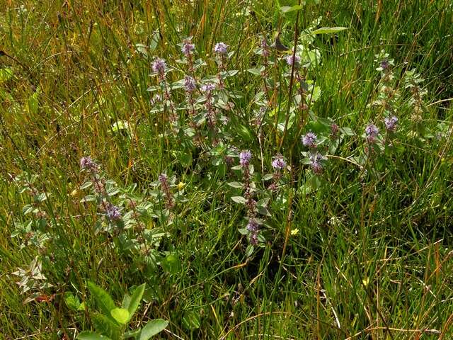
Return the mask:
<path id="1" fill-rule="evenodd" d="M 299 140 L 311 125 L 298 121 L 283 139 L 268 117 L 258 140 L 250 118 L 263 81 L 246 72 L 260 67 L 253 53 L 260 35 L 272 38 L 282 28 L 282 41 L 292 45 L 294 23 L 280 23 L 270 0 L 145 2 L 0 1 L 0 339 L 74 339 L 92 329 L 88 280 L 115 302 L 132 286 L 147 283 L 146 303 L 132 324 L 168 320 L 161 339 L 452 339 L 450 1 L 306 1 L 299 30 L 317 18 L 316 27 L 348 28 L 316 35 L 309 44 L 321 56 L 306 75 L 321 89 L 310 109 L 355 131 L 306 194 L 300 188 L 311 172 L 301 163 L 306 150 Z M 230 118 L 251 137 L 228 128 L 229 143 L 251 149 L 258 175 L 266 172 L 261 162 L 269 172 L 277 151 L 293 166 L 280 198 L 270 201 L 266 242 L 252 256 L 238 231 L 246 225 L 245 210 L 230 199 L 241 191 L 226 185 L 241 181 L 240 173 L 224 173 L 212 164 L 212 149 L 188 147 L 171 135 L 163 115 L 151 111 L 147 89 L 156 85 L 149 77 L 151 62 L 165 58 L 179 69 L 168 75 L 171 81 L 182 79 L 177 44 L 190 35 L 197 56 L 207 60 L 200 77 L 217 72 L 210 61 L 216 42 L 235 52 L 227 68 L 239 73 L 226 79 L 226 87 L 241 98 L 233 100 Z M 137 44 L 156 48 L 145 55 Z M 384 157 L 384 164 L 367 161 L 359 167 L 353 163 L 364 154 L 365 125 L 384 118 L 368 105 L 381 84 L 374 62 L 380 50 L 394 58 L 401 91 L 395 143 L 403 151 Z M 283 117 L 284 68 L 271 68 L 281 84 L 272 105 Z M 411 123 L 410 92 L 402 80 L 414 68 L 428 91 L 418 125 Z M 175 91 L 175 98 L 183 101 L 183 92 Z M 117 131 L 119 122 L 130 125 L 132 137 Z M 440 123 L 444 137 L 427 137 L 440 131 Z M 188 150 L 193 163 L 185 166 L 180 155 Z M 144 229 L 168 234 L 148 250 L 163 256 L 161 261 L 176 256 L 176 269 L 150 265 L 146 252 L 121 251 L 117 236 L 95 232 L 99 210 L 80 203 L 89 191 L 80 189 L 87 176 L 79 159 L 86 155 L 119 186 L 137 183 L 138 201 L 153 202 L 156 215 L 144 218 Z M 13 181 L 22 171 L 38 175 L 36 188 L 50 193 L 42 210 L 51 240 L 40 249 L 21 248 L 23 239 L 11 238 L 18 223 L 30 218 L 23 215 L 30 195 Z M 177 202 L 171 218 L 154 195 L 162 172 L 185 183 L 185 200 Z M 289 232 L 294 229 L 299 232 Z M 53 285 L 42 293 L 55 297 L 24 305 L 28 295 L 11 273 L 28 268 L 38 254 Z M 86 301 L 87 310 L 71 310 L 66 292 Z"/>

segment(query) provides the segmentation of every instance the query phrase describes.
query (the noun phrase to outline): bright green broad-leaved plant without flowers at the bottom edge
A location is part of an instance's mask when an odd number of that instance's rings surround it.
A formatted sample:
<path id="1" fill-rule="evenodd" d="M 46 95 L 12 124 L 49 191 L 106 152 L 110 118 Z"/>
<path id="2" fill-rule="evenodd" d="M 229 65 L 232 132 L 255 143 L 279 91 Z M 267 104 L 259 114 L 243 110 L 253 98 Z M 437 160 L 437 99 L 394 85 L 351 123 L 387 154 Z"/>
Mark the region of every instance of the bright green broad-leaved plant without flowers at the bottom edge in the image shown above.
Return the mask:
<path id="1" fill-rule="evenodd" d="M 135 288 L 132 295 L 125 294 L 120 307 L 117 307 L 113 298 L 98 285 L 88 282 L 88 290 L 100 311 L 90 310 L 91 321 L 96 332 L 82 331 L 77 336 L 79 340 L 148 340 L 168 326 L 168 322 L 164 319 L 151 319 L 144 327 L 129 329 L 128 324 L 142 302 L 145 284 Z"/>

